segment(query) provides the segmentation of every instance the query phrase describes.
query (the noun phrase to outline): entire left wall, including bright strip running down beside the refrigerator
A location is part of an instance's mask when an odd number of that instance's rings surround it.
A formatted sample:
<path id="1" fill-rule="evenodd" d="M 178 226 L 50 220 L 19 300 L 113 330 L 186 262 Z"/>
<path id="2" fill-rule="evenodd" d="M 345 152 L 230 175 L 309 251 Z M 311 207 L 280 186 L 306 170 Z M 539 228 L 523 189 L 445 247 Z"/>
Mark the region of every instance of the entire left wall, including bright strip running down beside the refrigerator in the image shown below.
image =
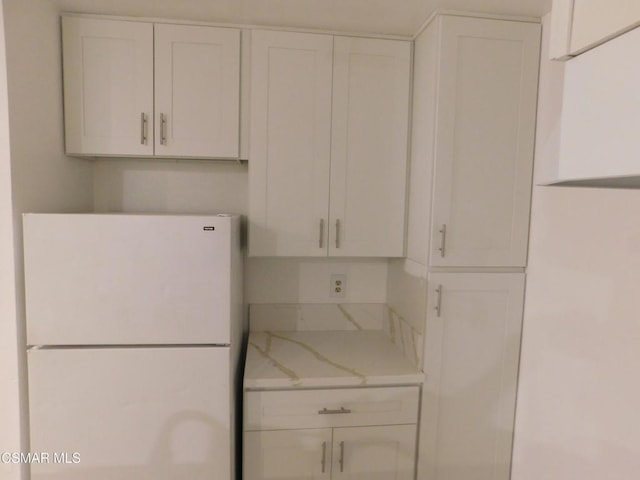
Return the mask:
<path id="1" fill-rule="evenodd" d="M 93 186 L 91 164 L 63 154 L 57 10 L 48 0 L 4 0 L 3 10 L 0 68 L 7 68 L 9 97 L 6 105 L 0 85 L 0 451 L 12 452 L 28 448 L 21 214 L 91 210 Z M 0 478 L 21 478 L 21 470 L 0 464 Z"/>

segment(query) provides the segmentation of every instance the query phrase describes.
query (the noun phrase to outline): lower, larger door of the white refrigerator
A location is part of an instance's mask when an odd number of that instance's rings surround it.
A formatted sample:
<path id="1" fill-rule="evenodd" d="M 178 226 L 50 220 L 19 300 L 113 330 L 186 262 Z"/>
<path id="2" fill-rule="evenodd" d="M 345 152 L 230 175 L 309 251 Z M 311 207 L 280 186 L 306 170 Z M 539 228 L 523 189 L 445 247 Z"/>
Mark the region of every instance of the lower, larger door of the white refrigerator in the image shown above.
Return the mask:
<path id="1" fill-rule="evenodd" d="M 229 348 L 28 354 L 33 480 L 231 478 Z M 54 457 L 57 455 L 57 457 Z"/>

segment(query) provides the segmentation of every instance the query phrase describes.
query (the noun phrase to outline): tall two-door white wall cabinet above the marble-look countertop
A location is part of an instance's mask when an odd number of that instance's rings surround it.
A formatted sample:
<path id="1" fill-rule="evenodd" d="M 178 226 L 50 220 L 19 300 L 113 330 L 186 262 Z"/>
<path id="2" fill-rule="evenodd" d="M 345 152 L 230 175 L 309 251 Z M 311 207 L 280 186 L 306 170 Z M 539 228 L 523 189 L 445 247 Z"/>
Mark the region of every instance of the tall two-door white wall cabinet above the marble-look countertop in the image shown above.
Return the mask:
<path id="1" fill-rule="evenodd" d="M 250 255 L 402 256 L 410 43 L 252 42 Z"/>

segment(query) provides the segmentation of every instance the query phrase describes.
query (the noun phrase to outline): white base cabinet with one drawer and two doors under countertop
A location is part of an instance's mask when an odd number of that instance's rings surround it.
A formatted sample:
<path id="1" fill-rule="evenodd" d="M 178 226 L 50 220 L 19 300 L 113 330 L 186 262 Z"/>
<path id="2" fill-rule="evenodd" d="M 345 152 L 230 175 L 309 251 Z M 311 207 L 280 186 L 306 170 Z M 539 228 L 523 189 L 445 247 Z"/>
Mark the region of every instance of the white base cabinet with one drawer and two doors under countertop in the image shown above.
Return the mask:
<path id="1" fill-rule="evenodd" d="M 247 392 L 246 480 L 412 480 L 418 387 Z"/>

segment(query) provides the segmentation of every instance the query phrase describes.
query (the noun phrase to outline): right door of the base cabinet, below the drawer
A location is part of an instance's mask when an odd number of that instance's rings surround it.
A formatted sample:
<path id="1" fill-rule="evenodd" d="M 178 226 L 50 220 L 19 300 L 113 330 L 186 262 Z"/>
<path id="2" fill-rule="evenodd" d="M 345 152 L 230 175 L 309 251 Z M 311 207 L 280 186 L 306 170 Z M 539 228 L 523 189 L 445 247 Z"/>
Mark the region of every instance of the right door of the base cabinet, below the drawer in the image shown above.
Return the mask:
<path id="1" fill-rule="evenodd" d="M 333 480 L 412 480 L 415 425 L 336 428 Z"/>

